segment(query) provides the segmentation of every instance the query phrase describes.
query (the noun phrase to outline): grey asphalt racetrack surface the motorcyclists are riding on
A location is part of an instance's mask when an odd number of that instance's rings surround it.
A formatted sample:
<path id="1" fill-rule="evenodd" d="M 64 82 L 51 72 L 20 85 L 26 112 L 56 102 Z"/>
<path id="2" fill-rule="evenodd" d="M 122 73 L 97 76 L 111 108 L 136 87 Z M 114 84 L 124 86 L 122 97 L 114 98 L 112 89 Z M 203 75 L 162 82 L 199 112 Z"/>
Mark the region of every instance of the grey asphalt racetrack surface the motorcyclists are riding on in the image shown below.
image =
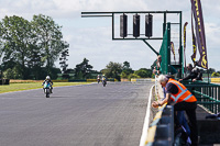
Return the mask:
<path id="1" fill-rule="evenodd" d="M 0 94 L 0 146 L 139 146 L 153 82 Z"/>

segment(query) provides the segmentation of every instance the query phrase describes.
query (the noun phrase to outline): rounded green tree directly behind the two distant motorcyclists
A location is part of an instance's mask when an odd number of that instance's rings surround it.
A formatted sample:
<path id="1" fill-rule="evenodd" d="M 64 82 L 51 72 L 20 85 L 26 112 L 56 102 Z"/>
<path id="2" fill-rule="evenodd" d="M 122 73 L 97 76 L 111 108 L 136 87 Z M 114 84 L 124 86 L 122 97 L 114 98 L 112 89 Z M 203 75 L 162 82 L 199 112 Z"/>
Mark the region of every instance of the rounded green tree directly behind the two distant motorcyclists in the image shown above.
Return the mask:
<path id="1" fill-rule="evenodd" d="M 107 78 L 116 78 L 117 80 L 120 80 L 120 74 L 122 71 L 123 67 L 119 63 L 110 61 L 106 68 L 102 70 L 102 74 L 107 76 Z"/>

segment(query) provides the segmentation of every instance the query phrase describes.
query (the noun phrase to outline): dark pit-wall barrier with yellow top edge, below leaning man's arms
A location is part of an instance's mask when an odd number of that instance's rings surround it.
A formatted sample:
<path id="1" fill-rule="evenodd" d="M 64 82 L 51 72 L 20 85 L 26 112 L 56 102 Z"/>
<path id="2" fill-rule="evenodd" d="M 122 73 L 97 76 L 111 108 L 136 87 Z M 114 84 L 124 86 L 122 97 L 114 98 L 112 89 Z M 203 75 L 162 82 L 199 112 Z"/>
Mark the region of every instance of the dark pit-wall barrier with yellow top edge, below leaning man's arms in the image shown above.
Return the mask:
<path id="1" fill-rule="evenodd" d="M 147 132 L 145 146 L 172 146 L 174 144 L 174 106 L 158 108 Z"/>

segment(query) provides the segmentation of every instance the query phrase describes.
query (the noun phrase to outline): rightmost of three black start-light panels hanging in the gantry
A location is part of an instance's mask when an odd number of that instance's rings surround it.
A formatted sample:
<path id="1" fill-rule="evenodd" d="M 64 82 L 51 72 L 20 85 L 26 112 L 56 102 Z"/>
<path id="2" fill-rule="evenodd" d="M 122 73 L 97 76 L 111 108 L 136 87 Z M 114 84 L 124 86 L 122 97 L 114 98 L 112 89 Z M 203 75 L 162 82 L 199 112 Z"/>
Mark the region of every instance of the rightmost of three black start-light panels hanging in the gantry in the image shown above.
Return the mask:
<path id="1" fill-rule="evenodd" d="M 145 15 L 145 36 L 151 37 L 153 32 L 153 15 Z"/>

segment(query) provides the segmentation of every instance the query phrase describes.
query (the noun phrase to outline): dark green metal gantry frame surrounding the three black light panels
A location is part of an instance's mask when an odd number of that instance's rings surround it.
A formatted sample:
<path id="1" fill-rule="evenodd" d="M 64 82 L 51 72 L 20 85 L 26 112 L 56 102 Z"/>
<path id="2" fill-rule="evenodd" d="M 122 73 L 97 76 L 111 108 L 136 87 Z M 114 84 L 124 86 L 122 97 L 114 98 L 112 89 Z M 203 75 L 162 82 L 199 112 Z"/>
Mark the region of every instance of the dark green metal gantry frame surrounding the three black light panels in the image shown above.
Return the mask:
<path id="1" fill-rule="evenodd" d="M 179 67 L 182 68 L 182 76 L 184 74 L 184 52 L 183 52 L 183 45 L 182 45 L 182 11 L 118 11 L 118 12 L 81 12 L 81 18 L 111 18 L 112 19 L 112 40 L 113 41 L 143 41 L 156 55 L 160 53 L 154 49 L 154 47 L 147 42 L 152 40 L 163 40 L 162 37 L 116 37 L 114 35 L 114 19 L 116 15 L 119 14 L 163 14 L 163 36 L 167 27 L 167 14 L 176 13 L 179 14 L 179 21 L 178 23 L 172 23 L 170 24 L 177 24 L 179 25 Z M 168 44 L 170 45 L 170 44 Z M 167 46 L 170 48 L 170 46 Z M 168 57 L 170 59 L 170 57 Z M 170 66 L 170 60 L 168 66 Z"/>

